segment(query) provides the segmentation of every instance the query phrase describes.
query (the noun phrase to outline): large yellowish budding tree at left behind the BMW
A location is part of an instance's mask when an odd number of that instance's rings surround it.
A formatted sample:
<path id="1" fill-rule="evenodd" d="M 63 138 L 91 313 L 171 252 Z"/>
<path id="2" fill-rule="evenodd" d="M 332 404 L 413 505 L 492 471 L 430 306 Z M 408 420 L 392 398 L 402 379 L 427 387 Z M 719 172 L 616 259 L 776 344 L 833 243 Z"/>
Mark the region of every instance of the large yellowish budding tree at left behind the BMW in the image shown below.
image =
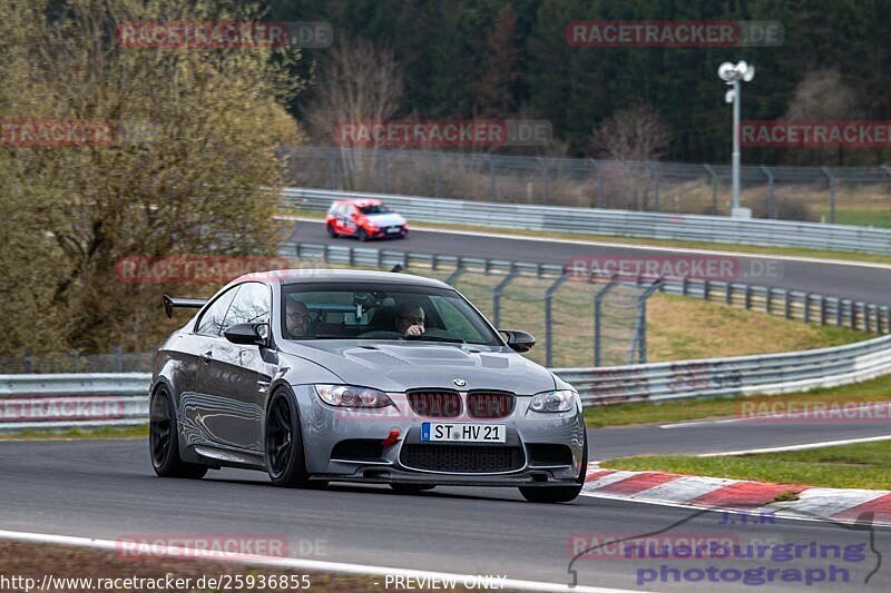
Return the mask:
<path id="1" fill-rule="evenodd" d="M 156 344 L 164 286 L 120 281 L 126 256 L 274 253 L 287 48 L 123 47 L 128 22 L 256 20 L 198 0 L 0 6 L 0 119 L 109 122 L 109 141 L 0 146 L 0 353 Z M 63 16 L 63 18 L 61 17 Z M 276 59 L 273 59 L 277 56 Z M 169 288 L 168 288 L 169 289 Z M 207 294 L 206 287 L 184 287 Z"/>

